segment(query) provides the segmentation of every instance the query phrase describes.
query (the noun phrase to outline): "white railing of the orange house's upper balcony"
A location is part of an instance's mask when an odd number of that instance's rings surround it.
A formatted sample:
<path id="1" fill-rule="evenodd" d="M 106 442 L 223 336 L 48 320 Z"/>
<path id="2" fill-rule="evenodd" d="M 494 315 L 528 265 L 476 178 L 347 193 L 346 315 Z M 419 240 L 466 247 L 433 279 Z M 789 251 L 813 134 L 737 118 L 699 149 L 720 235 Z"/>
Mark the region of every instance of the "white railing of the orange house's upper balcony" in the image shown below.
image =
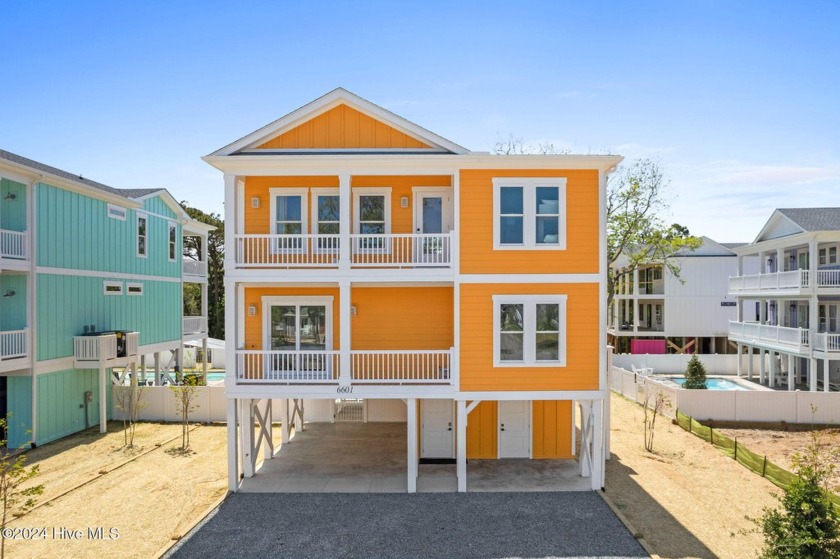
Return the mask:
<path id="1" fill-rule="evenodd" d="M 240 268 L 338 268 L 339 235 L 236 235 Z M 452 268 L 452 233 L 350 235 L 351 268 Z"/>

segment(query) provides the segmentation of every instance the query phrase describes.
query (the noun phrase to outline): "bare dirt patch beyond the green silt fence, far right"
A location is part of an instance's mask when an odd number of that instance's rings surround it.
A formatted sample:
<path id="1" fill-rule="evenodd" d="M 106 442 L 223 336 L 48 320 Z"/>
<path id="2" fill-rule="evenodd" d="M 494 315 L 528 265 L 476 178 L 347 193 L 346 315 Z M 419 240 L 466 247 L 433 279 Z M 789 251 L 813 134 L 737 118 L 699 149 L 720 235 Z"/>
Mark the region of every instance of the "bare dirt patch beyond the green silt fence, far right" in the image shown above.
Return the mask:
<path id="1" fill-rule="evenodd" d="M 798 428 L 796 425 L 787 426 L 786 430 L 773 429 L 724 429 L 715 427 L 728 437 L 737 438 L 738 442 L 756 454 L 763 454 L 777 466 L 793 471 L 791 459 L 795 452 L 804 452 L 811 444 L 812 431 L 808 428 Z M 840 429 L 836 427 L 820 429 L 816 432 L 821 444 L 830 449 L 840 449 Z M 829 480 L 829 486 L 836 492 L 840 491 L 840 455 L 834 459 L 834 475 Z"/>

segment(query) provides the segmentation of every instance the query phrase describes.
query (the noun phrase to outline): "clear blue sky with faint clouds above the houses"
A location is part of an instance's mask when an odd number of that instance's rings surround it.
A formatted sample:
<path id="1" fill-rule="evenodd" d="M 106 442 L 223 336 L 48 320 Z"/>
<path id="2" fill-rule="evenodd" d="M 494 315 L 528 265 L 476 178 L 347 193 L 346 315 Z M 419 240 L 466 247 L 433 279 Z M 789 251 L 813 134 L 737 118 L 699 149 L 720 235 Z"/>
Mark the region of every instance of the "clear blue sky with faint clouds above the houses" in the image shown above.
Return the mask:
<path id="1" fill-rule="evenodd" d="M 0 148 L 222 211 L 200 156 L 342 86 L 475 151 L 657 156 L 671 215 L 752 240 L 840 206 L 836 2 L 7 2 Z"/>

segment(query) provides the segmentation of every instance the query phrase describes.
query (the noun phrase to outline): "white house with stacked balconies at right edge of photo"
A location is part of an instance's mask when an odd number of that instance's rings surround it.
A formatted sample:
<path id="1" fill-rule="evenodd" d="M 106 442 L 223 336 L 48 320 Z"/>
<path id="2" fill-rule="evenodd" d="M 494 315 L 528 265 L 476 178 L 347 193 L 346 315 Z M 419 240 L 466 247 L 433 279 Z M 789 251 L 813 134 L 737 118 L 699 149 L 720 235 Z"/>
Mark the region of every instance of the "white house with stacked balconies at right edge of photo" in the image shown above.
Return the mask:
<path id="1" fill-rule="evenodd" d="M 729 339 L 739 353 L 761 355 L 760 382 L 840 390 L 840 208 L 777 209 L 752 243 L 734 250 L 729 294 L 739 306 Z M 748 258 L 757 259 L 757 273 L 744 269 Z"/>

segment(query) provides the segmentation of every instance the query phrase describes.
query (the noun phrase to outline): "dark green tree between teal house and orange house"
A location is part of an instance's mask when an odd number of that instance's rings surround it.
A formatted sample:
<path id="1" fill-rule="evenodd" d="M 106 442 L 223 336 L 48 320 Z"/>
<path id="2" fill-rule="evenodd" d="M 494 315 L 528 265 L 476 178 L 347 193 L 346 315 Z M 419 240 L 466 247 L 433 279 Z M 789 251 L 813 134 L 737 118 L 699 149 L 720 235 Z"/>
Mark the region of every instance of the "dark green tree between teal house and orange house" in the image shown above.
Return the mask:
<path id="1" fill-rule="evenodd" d="M 211 338 L 225 339 L 225 222 L 215 213 L 193 208 L 181 202 L 187 214 L 196 221 L 216 229 L 207 237 L 207 327 Z M 201 242 L 198 237 L 184 237 L 184 257 L 199 260 Z M 201 289 L 184 284 L 184 314 L 196 315 L 201 310 Z"/>

